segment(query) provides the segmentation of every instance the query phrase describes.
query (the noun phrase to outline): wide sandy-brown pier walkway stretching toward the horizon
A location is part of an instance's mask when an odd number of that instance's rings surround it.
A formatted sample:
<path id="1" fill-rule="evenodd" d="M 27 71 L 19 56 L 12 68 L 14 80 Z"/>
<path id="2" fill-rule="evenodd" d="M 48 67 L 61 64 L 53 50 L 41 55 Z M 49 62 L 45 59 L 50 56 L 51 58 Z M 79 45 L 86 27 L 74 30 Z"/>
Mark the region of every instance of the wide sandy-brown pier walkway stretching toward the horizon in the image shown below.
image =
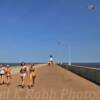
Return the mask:
<path id="1" fill-rule="evenodd" d="M 13 76 L 9 87 L 0 86 L 0 100 L 100 100 L 99 86 L 57 65 L 41 65 L 36 73 L 32 89 L 18 87 L 20 77 Z"/>

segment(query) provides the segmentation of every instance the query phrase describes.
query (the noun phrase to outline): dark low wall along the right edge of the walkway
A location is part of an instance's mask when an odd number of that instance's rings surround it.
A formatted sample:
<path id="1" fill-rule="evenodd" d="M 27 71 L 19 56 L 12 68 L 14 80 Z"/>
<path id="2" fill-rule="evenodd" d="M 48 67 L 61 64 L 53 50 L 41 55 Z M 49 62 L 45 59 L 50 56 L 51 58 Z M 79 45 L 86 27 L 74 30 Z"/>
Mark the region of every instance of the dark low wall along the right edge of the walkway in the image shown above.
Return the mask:
<path id="1" fill-rule="evenodd" d="M 63 68 L 78 74 L 98 85 L 100 85 L 100 69 L 99 68 L 91 68 L 84 66 L 76 66 L 76 65 L 61 65 Z"/>

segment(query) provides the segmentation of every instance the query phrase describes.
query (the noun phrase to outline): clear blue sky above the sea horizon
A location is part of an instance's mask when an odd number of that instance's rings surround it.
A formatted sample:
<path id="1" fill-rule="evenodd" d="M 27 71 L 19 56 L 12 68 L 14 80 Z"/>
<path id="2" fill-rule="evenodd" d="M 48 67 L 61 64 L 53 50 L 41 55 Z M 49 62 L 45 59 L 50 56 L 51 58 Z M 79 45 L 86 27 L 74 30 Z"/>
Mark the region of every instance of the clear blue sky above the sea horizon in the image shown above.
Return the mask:
<path id="1" fill-rule="evenodd" d="M 0 0 L 0 62 L 68 61 L 68 45 L 73 62 L 100 62 L 100 0 Z"/>

